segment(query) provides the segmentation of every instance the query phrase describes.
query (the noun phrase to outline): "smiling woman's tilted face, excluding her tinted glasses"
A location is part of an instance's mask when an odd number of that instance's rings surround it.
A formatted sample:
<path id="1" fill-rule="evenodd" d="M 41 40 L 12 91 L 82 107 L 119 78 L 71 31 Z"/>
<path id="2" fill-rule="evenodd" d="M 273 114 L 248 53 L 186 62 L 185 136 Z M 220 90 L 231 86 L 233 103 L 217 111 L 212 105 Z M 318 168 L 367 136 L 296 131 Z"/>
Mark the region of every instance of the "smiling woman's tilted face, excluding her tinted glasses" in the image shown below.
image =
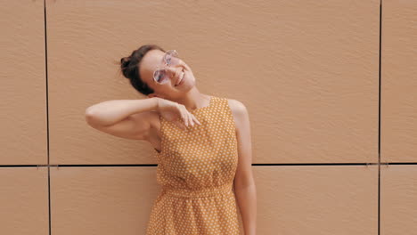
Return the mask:
<path id="1" fill-rule="evenodd" d="M 148 95 L 148 97 L 158 96 L 161 98 L 176 99 L 183 96 L 195 85 L 195 77 L 192 74 L 192 69 L 181 59 L 178 64 L 166 67 L 168 81 L 164 84 L 159 84 L 153 79 L 153 72 L 158 67 L 165 65 L 163 58 L 165 53 L 155 49 L 146 53 L 141 61 L 140 75 L 148 86 L 155 92 Z M 184 72 L 183 81 L 181 85 L 176 85 L 181 80 L 182 72 Z"/>

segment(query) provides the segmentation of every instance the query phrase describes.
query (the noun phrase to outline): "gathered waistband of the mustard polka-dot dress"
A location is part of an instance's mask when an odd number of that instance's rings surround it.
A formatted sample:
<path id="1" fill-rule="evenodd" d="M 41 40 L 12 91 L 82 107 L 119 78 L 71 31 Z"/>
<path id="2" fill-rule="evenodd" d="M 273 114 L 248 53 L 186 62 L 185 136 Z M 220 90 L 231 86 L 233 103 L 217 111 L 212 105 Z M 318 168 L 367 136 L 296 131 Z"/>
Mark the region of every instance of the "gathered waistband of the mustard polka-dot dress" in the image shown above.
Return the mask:
<path id="1" fill-rule="evenodd" d="M 216 188 L 204 189 L 174 189 L 170 187 L 162 187 L 162 193 L 168 197 L 176 198 L 206 198 L 228 195 L 233 193 L 233 184 L 225 184 Z"/>

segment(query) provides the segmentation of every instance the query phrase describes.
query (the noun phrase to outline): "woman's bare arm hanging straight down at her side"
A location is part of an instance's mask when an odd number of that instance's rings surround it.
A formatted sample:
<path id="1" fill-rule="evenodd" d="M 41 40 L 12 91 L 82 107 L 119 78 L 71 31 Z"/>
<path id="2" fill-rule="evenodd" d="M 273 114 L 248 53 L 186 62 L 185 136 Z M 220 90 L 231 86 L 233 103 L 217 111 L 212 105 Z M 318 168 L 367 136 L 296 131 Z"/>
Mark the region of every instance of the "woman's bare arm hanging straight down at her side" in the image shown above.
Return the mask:
<path id="1" fill-rule="evenodd" d="M 257 230 L 257 189 L 252 174 L 252 145 L 250 138 L 249 114 L 240 102 L 230 100 L 233 109 L 239 162 L 234 177 L 234 191 L 241 209 L 245 235 L 255 235 Z"/>

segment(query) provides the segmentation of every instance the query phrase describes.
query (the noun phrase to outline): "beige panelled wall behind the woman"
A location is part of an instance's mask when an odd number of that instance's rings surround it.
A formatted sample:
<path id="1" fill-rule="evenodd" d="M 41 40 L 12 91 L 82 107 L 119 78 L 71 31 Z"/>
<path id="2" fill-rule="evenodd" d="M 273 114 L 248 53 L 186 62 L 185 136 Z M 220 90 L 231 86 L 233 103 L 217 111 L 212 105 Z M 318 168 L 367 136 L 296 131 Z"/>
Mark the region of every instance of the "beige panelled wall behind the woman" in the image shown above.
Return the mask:
<path id="1" fill-rule="evenodd" d="M 258 234 L 417 234 L 416 1 L 383 0 L 381 31 L 377 0 L 2 1 L 0 18 L 1 234 L 144 234 L 151 145 L 84 117 L 144 98 L 115 65 L 143 44 L 249 109 Z"/>

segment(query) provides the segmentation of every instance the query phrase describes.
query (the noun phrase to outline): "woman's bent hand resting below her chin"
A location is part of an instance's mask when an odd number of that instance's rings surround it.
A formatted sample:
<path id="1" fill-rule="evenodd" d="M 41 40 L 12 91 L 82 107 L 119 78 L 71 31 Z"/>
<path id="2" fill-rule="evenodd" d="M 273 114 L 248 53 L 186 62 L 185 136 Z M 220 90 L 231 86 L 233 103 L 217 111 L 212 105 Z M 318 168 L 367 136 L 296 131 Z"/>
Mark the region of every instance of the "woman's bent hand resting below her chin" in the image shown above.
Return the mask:
<path id="1" fill-rule="evenodd" d="M 194 126 L 194 123 L 201 125 L 200 121 L 185 108 L 184 104 L 159 98 L 157 110 L 160 116 L 173 122 L 183 130 L 186 130 L 189 125 Z M 181 121 L 184 121 L 185 125 Z"/>

